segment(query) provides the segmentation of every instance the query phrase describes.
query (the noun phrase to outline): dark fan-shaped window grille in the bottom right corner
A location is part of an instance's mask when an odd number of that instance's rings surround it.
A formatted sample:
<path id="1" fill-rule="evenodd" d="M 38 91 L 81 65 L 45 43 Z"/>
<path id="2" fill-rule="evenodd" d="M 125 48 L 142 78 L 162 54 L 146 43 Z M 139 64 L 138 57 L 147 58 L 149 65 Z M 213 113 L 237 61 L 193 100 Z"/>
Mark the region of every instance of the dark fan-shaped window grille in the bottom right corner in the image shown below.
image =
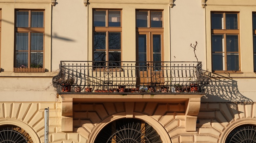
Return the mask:
<path id="1" fill-rule="evenodd" d="M 228 134 L 225 143 L 256 143 L 256 126 L 236 127 Z"/>

